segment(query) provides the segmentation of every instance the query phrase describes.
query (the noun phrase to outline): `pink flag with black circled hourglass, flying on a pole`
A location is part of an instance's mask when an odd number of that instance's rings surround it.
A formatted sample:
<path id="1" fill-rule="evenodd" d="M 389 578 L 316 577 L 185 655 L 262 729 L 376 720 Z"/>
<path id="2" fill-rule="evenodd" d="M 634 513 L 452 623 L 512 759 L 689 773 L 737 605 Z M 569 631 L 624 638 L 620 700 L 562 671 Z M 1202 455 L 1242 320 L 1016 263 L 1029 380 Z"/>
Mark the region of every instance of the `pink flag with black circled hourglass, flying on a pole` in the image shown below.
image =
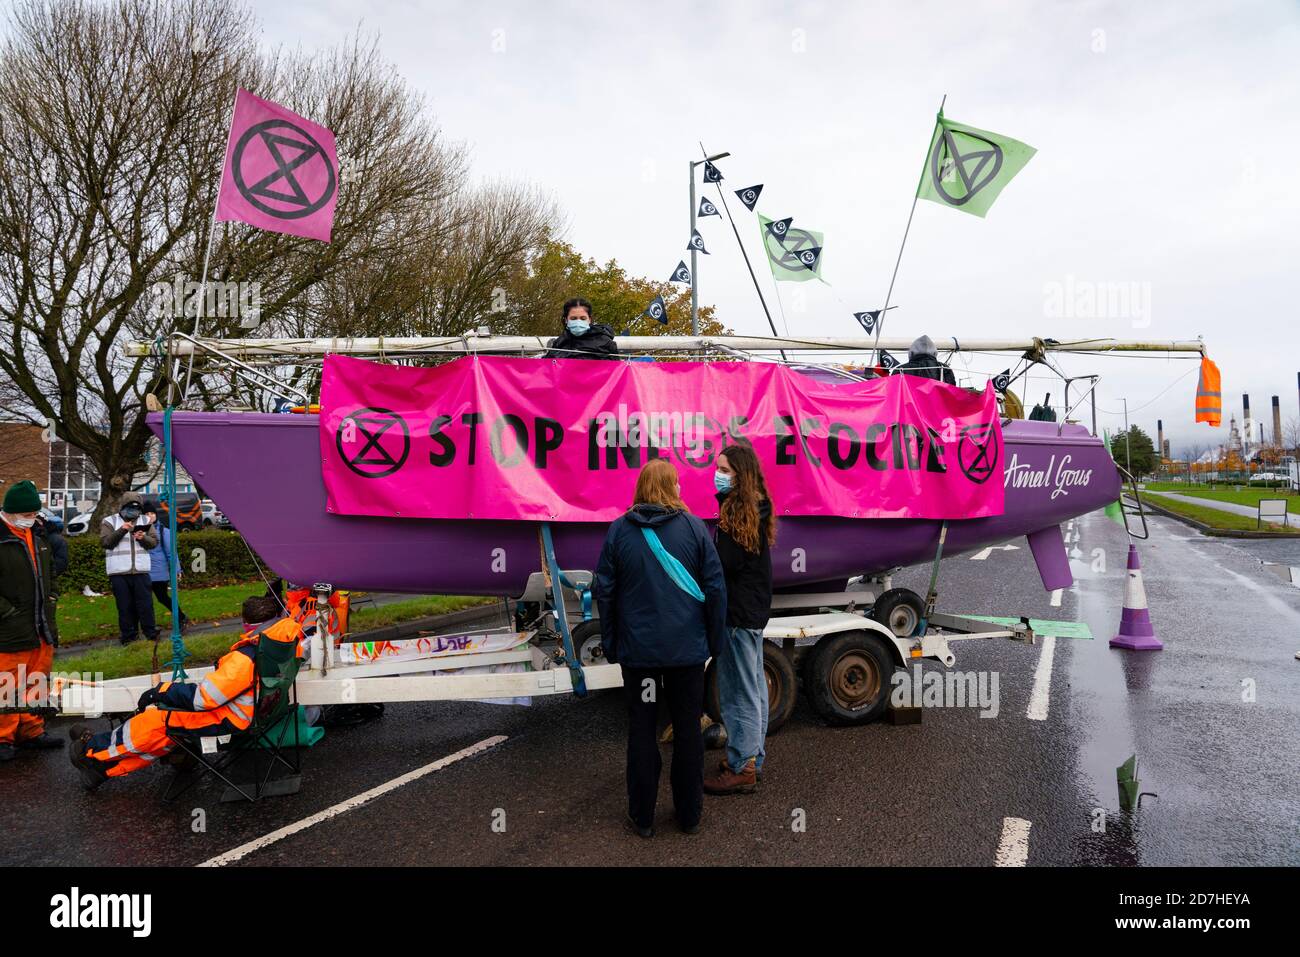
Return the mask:
<path id="1" fill-rule="evenodd" d="M 329 242 L 338 202 L 334 134 L 240 90 L 226 142 L 217 221 Z"/>

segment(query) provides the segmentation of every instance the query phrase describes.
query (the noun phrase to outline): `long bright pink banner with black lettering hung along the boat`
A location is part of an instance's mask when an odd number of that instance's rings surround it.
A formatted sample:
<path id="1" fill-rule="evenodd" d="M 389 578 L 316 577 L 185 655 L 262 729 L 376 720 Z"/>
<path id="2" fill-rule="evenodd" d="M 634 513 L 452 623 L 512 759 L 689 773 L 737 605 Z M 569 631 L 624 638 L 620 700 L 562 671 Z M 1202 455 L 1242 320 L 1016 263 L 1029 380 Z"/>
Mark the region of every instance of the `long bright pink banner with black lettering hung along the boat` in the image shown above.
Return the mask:
<path id="1" fill-rule="evenodd" d="M 714 460 L 744 436 L 779 515 L 1002 512 L 1002 428 L 983 393 L 911 376 L 827 384 L 774 363 L 326 356 L 326 508 L 403 519 L 608 521 L 666 458 L 718 515 Z"/>

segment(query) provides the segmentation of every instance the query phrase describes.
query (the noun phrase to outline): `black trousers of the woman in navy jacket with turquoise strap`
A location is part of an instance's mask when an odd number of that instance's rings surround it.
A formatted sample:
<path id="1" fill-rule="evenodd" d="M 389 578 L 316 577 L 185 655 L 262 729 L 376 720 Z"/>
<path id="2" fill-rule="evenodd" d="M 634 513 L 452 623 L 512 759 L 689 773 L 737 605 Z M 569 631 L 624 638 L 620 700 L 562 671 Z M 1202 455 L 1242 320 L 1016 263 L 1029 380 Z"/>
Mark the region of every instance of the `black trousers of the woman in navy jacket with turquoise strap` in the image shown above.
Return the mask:
<path id="1" fill-rule="evenodd" d="M 672 719 L 672 806 L 682 827 L 699 823 L 705 806 L 705 666 L 684 668 L 623 668 L 623 700 L 628 706 L 628 813 L 638 827 L 654 823 L 659 797 L 659 701 Z"/>

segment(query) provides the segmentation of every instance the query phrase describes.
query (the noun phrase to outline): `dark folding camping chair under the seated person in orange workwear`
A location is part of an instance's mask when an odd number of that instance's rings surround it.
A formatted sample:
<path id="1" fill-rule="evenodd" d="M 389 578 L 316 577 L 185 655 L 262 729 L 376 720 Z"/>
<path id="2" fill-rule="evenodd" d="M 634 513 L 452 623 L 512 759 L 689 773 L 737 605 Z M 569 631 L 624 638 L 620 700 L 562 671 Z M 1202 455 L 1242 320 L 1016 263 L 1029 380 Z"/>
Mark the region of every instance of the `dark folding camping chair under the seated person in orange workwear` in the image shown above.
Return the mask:
<path id="1" fill-rule="evenodd" d="M 190 772 L 178 771 L 168 784 L 162 800 L 174 801 L 208 772 L 225 781 L 222 801 L 237 801 L 240 797 L 256 801 L 260 797 L 298 793 L 302 785 L 295 693 L 298 667 L 296 645 L 274 641 L 263 635 L 254 657 L 252 723 L 246 729 L 234 732 L 229 744 L 216 754 L 204 753 L 203 736 L 186 728 L 177 728 L 173 732 L 169 727 L 168 739 L 195 762 L 195 767 Z M 291 758 L 285 755 L 289 750 L 289 742 L 285 740 L 289 736 L 286 723 L 294 726 Z M 240 784 L 233 779 L 233 771 L 240 761 L 248 758 L 252 761 L 252 779 Z M 264 759 L 265 771 L 261 767 Z M 270 775 L 281 765 L 289 774 L 272 780 Z"/>

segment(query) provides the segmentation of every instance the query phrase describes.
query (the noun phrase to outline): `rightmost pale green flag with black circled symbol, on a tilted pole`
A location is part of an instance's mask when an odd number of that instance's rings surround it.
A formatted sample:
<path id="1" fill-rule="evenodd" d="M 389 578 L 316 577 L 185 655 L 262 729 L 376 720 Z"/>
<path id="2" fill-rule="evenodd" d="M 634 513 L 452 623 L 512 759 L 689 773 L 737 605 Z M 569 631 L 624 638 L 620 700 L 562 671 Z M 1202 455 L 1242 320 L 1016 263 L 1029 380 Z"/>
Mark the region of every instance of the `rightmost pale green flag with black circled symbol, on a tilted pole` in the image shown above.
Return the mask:
<path id="1" fill-rule="evenodd" d="M 976 130 L 940 113 L 916 195 L 983 217 L 1035 152 L 1010 137 Z"/>

